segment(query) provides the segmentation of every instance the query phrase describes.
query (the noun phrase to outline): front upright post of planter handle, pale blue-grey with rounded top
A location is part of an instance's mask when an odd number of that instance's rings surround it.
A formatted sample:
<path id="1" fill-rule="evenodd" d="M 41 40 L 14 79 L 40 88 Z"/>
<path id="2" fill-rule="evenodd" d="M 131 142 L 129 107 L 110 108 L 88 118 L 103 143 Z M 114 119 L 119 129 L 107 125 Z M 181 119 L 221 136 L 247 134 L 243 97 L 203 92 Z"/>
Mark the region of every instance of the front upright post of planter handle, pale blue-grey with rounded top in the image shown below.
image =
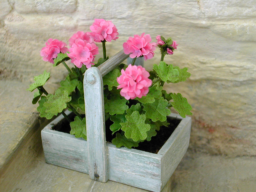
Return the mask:
<path id="1" fill-rule="evenodd" d="M 84 74 L 84 100 L 90 179 L 107 182 L 108 158 L 105 134 L 103 81 L 98 68 Z"/>

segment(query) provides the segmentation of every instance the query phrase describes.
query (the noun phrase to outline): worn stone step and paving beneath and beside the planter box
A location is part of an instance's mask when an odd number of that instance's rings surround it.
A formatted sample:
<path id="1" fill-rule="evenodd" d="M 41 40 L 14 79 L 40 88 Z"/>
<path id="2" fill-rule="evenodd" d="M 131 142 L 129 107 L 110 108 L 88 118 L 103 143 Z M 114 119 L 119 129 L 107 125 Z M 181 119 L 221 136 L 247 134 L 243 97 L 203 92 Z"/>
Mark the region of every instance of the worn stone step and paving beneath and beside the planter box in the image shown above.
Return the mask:
<path id="1" fill-rule="evenodd" d="M 41 119 L 28 83 L 0 81 L 0 191 L 1 192 L 142 192 L 107 181 L 90 180 L 84 173 L 45 163 Z M 193 128 L 192 128 L 193 129 Z M 162 192 L 253 192 L 256 157 L 228 158 L 188 150 Z"/>

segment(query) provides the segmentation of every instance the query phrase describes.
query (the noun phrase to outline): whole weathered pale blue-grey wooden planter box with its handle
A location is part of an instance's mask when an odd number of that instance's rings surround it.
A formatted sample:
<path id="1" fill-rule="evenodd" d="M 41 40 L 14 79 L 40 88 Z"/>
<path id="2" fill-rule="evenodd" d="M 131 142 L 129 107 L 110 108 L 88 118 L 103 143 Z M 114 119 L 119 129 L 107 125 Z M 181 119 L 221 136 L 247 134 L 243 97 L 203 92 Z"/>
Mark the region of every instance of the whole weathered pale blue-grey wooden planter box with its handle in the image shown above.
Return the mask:
<path id="1" fill-rule="evenodd" d="M 127 55 L 120 51 L 107 61 L 116 62 L 110 65 L 112 67 L 106 67 L 105 62 L 98 69 L 92 67 L 86 71 L 84 91 L 87 141 L 53 130 L 52 127 L 64 118 L 61 115 L 41 132 L 45 160 L 49 164 L 89 174 L 91 179 L 97 181 L 112 180 L 160 192 L 187 151 L 191 118 L 170 115 L 181 119 L 181 122 L 157 154 L 117 148 L 106 142 L 101 76 L 113 70 L 125 58 Z"/>

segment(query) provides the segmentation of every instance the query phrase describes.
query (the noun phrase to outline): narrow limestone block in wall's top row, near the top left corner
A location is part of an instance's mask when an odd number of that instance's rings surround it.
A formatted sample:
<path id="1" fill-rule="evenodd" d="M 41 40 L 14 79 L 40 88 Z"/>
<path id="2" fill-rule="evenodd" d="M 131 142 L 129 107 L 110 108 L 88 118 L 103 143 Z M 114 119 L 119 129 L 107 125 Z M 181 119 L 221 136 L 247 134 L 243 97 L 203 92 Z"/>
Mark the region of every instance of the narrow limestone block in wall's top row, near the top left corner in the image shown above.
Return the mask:
<path id="1" fill-rule="evenodd" d="M 76 0 L 15 0 L 18 13 L 72 13 Z"/>

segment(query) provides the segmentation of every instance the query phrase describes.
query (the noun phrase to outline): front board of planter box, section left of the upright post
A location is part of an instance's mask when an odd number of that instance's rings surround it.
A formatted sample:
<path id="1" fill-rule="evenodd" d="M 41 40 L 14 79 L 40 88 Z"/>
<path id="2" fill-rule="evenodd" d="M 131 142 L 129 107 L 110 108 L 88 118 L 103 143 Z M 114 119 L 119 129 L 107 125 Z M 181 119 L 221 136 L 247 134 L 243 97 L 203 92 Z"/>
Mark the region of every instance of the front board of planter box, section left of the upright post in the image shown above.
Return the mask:
<path id="1" fill-rule="evenodd" d="M 47 163 L 89 173 L 87 143 L 84 142 L 84 139 L 51 130 L 50 127 L 45 127 L 41 136 Z"/>

